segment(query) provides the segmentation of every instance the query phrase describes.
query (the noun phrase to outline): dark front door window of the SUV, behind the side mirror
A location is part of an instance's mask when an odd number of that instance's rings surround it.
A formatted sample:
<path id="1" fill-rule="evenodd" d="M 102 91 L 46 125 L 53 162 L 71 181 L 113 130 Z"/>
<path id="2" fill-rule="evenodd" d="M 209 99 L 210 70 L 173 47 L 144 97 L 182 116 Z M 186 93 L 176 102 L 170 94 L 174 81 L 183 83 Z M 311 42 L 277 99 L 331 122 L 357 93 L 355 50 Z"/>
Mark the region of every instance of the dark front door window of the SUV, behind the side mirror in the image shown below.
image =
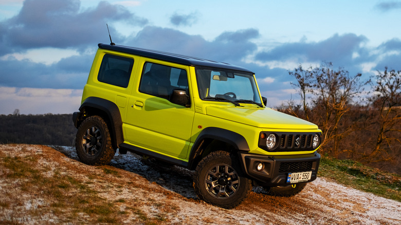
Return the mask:
<path id="1" fill-rule="evenodd" d="M 169 100 L 174 89 L 185 90 L 189 95 L 185 69 L 145 63 L 139 85 L 140 92 Z"/>

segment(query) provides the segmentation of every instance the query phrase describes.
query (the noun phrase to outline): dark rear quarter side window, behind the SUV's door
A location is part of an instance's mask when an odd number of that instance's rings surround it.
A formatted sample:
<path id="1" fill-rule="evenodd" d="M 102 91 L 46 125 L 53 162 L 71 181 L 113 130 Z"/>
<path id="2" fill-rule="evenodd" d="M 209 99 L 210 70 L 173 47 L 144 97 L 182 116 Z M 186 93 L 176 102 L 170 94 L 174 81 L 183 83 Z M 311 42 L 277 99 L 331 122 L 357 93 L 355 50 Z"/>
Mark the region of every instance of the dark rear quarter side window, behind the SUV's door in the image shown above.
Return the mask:
<path id="1" fill-rule="evenodd" d="M 118 55 L 105 54 L 100 64 L 98 81 L 119 87 L 127 87 L 134 60 Z"/>

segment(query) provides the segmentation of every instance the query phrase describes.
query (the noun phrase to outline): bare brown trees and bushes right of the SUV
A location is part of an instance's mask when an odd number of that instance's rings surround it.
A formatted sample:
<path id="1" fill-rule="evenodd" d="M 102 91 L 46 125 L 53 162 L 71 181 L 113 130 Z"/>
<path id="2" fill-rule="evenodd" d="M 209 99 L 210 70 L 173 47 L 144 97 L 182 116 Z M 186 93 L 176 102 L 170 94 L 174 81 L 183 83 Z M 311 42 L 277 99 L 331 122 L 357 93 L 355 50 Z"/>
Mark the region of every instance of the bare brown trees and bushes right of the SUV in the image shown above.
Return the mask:
<path id="1" fill-rule="evenodd" d="M 332 67 L 289 71 L 301 100 L 279 110 L 322 129 L 320 153 L 401 174 L 401 70 L 386 67 L 363 81 Z"/>

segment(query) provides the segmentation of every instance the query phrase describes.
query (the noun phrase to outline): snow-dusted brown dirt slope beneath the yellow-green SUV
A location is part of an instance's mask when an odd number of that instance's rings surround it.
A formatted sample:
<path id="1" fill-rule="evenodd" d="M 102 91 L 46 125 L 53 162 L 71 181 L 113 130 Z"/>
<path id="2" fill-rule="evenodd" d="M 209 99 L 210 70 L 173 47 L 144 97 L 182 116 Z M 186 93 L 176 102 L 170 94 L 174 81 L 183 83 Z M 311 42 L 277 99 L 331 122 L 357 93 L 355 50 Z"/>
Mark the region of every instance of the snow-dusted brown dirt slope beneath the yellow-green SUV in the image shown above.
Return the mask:
<path id="1" fill-rule="evenodd" d="M 71 204 L 70 208 L 65 204 L 64 207 L 55 205 L 52 197 L 43 197 L 47 193 L 43 188 L 46 186 L 24 188 L 24 179 L 10 176 L 12 173 L 5 163 L 6 159 L 16 156 L 21 159 L 35 156 L 31 164 L 37 166 L 35 170 L 44 177 L 65 176 L 85 184 L 101 201 L 118 209 L 107 214 L 113 220 L 101 220 L 99 213 L 85 209 L 80 212 L 77 205 Z M 72 147 L 0 145 L 0 157 L 4 162 L 0 164 L 0 223 L 401 223 L 401 202 L 323 178 L 309 183 L 304 191 L 290 198 L 268 196 L 254 188 L 239 207 L 225 210 L 197 199 L 192 188 L 192 172 L 176 166 L 160 166 L 131 153 L 117 153 L 106 166 L 82 164 Z M 52 186 L 57 188 L 58 185 Z M 71 188 L 64 190 L 63 196 L 71 199 L 79 193 Z M 55 211 L 54 207 L 59 208 Z"/>

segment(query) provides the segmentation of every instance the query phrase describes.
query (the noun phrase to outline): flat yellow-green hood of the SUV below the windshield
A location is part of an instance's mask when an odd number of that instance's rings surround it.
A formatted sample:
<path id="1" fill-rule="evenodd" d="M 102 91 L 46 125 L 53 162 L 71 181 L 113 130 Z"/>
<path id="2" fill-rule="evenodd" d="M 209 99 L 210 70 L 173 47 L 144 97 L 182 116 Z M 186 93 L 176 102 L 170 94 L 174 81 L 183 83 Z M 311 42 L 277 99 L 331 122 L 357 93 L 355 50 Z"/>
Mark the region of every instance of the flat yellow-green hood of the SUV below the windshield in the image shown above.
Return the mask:
<path id="1" fill-rule="evenodd" d="M 270 108 L 207 106 L 206 114 L 261 128 L 317 129 L 318 126 Z"/>

